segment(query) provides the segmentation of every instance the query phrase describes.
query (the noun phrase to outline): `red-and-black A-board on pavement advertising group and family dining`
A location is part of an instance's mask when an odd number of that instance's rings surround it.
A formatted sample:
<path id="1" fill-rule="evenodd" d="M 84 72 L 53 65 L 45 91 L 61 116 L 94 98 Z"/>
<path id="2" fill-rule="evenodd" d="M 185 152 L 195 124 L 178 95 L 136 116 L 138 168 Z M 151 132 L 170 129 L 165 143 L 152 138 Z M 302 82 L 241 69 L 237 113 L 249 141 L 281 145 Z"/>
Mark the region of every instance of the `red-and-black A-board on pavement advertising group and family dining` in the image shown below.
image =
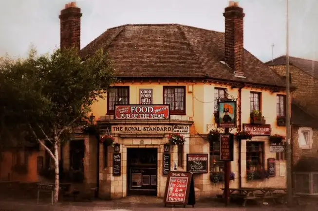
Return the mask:
<path id="1" fill-rule="evenodd" d="M 194 181 L 191 172 L 169 172 L 165 196 L 165 207 L 170 205 L 195 205 Z"/>

